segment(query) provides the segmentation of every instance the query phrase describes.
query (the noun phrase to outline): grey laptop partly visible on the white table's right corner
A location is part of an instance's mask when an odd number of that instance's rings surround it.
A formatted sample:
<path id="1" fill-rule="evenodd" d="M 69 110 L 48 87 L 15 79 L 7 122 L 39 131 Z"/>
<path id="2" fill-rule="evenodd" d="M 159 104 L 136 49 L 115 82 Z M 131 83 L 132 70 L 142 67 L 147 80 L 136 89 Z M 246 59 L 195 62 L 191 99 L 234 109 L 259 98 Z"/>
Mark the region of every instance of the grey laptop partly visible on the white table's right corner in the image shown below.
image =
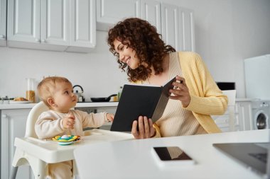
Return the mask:
<path id="1" fill-rule="evenodd" d="M 225 143 L 213 146 L 264 178 L 270 178 L 270 143 Z"/>

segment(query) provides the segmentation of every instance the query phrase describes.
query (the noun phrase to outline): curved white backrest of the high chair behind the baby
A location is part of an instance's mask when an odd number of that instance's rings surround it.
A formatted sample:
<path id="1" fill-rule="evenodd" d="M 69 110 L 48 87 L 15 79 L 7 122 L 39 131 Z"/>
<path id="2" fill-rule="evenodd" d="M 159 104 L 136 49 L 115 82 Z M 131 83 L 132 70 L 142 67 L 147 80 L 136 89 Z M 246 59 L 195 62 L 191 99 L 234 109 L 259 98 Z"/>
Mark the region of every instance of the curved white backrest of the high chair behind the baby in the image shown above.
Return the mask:
<path id="1" fill-rule="evenodd" d="M 30 110 L 27 117 L 26 134 L 24 137 L 38 138 L 35 132 L 36 120 L 38 120 L 38 116 L 41 115 L 41 113 L 46 110 L 49 110 L 49 108 L 47 105 L 45 105 L 45 103 L 43 103 L 43 101 L 34 105 L 34 107 Z"/>

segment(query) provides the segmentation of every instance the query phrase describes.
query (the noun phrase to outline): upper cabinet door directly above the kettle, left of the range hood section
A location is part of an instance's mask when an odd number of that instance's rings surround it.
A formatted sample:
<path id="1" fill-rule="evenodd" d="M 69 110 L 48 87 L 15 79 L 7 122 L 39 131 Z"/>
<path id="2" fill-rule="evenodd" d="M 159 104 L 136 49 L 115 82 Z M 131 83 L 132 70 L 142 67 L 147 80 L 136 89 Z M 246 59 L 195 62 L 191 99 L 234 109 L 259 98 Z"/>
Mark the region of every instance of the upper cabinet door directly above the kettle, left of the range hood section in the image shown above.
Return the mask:
<path id="1" fill-rule="evenodd" d="M 72 0 L 70 5 L 70 46 L 95 47 L 95 0 Z"/>

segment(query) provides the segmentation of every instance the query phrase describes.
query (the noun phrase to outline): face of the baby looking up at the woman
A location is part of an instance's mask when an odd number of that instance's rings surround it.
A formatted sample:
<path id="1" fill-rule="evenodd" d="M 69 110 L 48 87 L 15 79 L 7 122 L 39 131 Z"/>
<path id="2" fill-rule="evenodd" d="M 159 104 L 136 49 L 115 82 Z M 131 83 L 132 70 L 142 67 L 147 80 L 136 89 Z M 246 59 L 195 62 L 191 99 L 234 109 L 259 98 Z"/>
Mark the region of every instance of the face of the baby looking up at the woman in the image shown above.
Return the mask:
<path id="1" fill-rule="evenodd" d="M 59 112 L 68 112 L 77 103 L 77 97 L 73 93 L 71 83 L 56 83 L 53 99 L 56 104 L 55 110 Z"/>

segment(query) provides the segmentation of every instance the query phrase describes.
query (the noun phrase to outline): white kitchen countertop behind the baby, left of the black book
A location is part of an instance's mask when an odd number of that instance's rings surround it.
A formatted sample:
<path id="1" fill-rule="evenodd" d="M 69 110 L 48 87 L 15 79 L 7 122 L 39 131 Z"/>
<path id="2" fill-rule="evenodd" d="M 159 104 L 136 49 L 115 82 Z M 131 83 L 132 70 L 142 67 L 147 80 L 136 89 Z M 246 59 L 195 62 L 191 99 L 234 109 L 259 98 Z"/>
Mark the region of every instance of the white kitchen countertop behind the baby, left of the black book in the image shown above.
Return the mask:
<path id="1" fill-rule="evenodd" d="M 28 104 L 0 104 L 0 110 L 11 110 L 11 109 L 31 109 L 36 103 Z M 77 103 L 75 108 L 82 107 L 117 107 L 118 102 L 104 102 L 104 103 Z"/>

